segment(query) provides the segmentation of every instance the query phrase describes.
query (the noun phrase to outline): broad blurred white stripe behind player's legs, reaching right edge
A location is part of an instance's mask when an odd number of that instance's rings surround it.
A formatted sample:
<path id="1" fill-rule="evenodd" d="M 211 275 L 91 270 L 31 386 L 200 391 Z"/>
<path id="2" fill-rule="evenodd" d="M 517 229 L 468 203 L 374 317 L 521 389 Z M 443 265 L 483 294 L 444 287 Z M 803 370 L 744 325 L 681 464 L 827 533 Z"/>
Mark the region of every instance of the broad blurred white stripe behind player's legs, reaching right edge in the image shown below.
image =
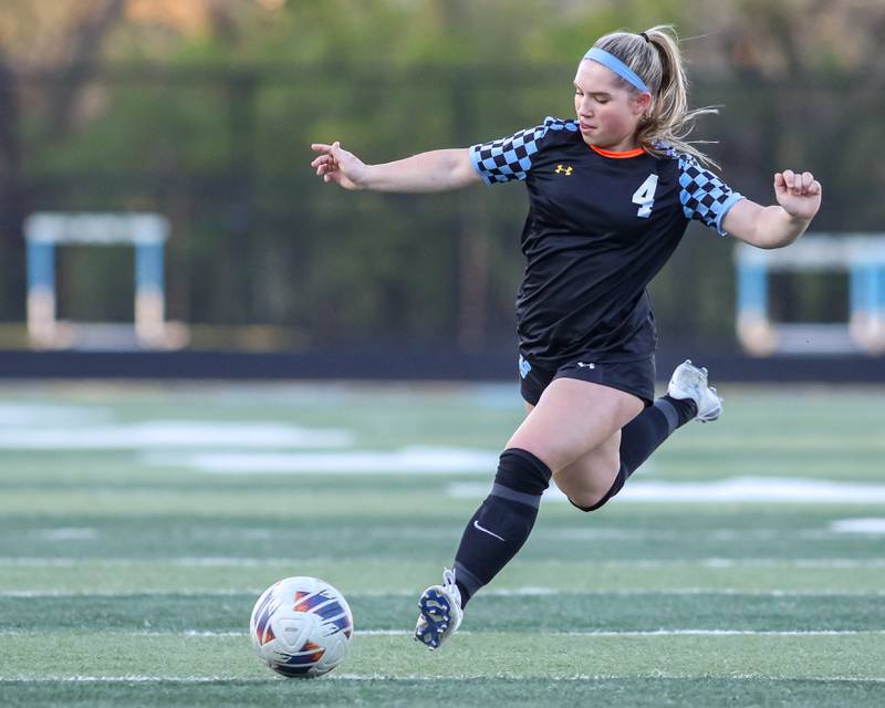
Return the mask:
<path id="1" fill-rule="evenodd" d="M 458 482 L 449 485 L 448 494 L 456 499 L 481 499 L 489 485 Z M 569 499 L 559 489 L 544 493 L 545 503 L 563 503 Z M 617 496 L 618 503 L 885 503 L 885 485 L 862 485 L 830 480 L 775 477 L 735 477 L 710 482 L 631 481 Z"/>

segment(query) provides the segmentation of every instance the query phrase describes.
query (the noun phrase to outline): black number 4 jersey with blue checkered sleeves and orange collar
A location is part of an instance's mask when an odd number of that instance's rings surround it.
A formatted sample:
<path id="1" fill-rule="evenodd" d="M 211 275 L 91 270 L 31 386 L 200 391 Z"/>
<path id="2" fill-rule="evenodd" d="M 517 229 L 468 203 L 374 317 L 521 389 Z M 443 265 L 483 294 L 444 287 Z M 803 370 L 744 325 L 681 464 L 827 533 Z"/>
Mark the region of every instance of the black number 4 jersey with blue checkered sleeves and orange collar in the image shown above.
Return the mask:
<path id="1" fill-rule="evenodd" d="M 520 353 L 554 371 L 576 358 L 639 360 L 657 340 L 646 287 L 699 219 L 722 231 L 741 199 L 690 155 L 610 153 L 584 143 L 576 121 L 470 148 L 487 184 L 525 180 L 528 259 L 517 296 Z"/>

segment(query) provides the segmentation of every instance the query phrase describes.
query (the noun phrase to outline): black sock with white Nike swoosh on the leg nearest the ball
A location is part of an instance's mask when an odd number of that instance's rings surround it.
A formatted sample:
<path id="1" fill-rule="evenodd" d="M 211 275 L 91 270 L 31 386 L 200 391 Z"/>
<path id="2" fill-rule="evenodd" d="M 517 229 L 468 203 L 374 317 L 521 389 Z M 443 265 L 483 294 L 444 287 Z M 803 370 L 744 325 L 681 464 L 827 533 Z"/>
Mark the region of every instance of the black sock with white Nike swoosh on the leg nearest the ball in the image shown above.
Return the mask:
<path id="1" fill-rule="evenodd" d="M 461 606 L 522 548 L 538 517 L 550 469 L 527 450 L 501 454 L 491 493 L 470 519 L 455 555 Z"/>

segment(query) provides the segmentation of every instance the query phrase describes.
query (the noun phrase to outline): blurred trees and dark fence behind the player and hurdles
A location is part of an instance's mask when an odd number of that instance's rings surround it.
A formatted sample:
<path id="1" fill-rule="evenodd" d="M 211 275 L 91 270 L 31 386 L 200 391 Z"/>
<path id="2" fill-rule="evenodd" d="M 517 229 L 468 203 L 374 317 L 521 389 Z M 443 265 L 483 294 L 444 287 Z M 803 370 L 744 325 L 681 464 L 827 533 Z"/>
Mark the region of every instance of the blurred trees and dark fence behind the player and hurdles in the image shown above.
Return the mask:
<path id="1" fill-rule="evenodd" d="M 722 106 L 694 136 L 728 183 L 768 204 L 810 169 L 814 230 L 883 230 L 879 0 L 2 0 L 0 320 L 24 319 L 28 214 L 150 210 L 168 316 L 206 345 L 511 345 L 523 188 L 343 192 L 310 143 L 386 162 L 570 117 L 595 39 L 658 23 Z M 131 252 L 58 258 L 62 316 L 132 319 Z M 773 287 L 775 316 L 845 315 L 844 282 Z M 652 290 L 663 345 L 735 346 L 729 241 L 693 225 Z"/>

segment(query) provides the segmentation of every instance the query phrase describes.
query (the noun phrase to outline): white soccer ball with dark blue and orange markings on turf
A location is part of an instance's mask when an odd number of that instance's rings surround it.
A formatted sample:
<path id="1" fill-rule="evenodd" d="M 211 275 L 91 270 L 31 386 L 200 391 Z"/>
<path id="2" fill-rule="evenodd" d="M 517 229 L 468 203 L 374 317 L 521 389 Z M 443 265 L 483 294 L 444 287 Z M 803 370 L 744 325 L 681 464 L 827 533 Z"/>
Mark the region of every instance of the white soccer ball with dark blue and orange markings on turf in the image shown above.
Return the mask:
<path id="1" fill-rule="evenodd" d="M 249 635 L 259 658 L 278 674 L 315 678 L 347 656 L 353 614 L 344 596 L 316 577 L 285 577 L 258 598 Z"/>

